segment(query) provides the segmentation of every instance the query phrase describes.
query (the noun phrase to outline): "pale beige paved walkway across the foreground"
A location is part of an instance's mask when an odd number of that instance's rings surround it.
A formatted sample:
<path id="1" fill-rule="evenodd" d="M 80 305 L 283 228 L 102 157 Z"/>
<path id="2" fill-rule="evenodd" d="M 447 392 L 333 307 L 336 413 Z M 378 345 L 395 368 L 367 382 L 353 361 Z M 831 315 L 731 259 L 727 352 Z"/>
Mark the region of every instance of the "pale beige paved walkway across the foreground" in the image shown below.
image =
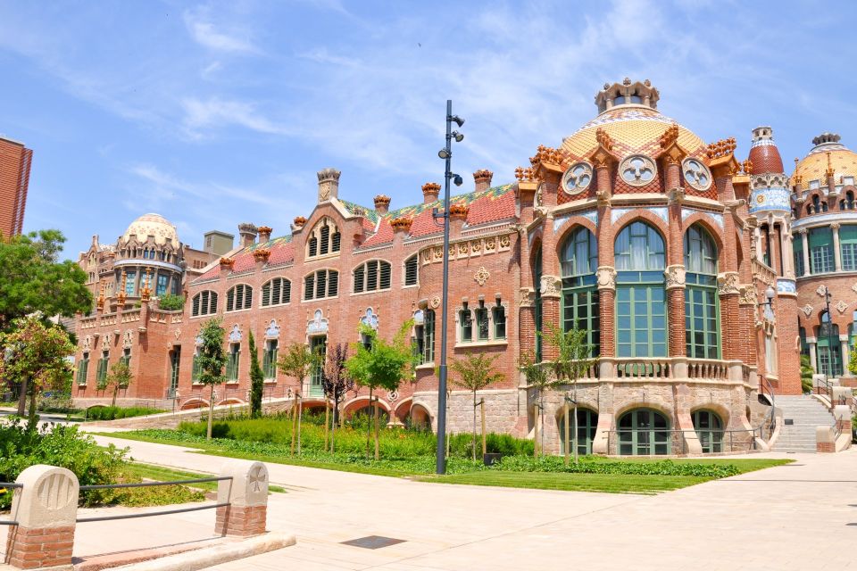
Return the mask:
<path id="1" fill-rule="evenodd" d="M 223 459 L 129 445 L 150 463 L 217 472 Z M 769 457 L 785 457 L 770 454 Z M 857 569 L 857 451 L 788 455 L 793 465 L 657 496 L 423 484 L 269 464 L 269 529 L 295 547 L 215 567 L 221 571 L 587 569 Z M 211 511 L 81 524 L 75 554 L 210 537 Z M 145 530 L 151 530 L 150 532 Z M 366 550 L 340 542 L 384 535 Z"/>

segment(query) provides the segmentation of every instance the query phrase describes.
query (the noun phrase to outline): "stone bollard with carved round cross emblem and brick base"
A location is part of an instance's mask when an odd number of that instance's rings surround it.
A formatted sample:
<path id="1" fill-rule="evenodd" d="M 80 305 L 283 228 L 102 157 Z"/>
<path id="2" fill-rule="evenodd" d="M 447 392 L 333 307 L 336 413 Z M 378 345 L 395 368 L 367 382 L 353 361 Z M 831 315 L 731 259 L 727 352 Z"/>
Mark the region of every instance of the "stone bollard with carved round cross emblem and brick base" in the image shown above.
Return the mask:
<path id="1" fill-rule="evenodd" d="M 217 509 L 214 533 L 247 537 L 265 533 L 268 516 L 268 468 L 262 462 L 229 460 L 220 468 L 217 503 L 229 503 Z"/>

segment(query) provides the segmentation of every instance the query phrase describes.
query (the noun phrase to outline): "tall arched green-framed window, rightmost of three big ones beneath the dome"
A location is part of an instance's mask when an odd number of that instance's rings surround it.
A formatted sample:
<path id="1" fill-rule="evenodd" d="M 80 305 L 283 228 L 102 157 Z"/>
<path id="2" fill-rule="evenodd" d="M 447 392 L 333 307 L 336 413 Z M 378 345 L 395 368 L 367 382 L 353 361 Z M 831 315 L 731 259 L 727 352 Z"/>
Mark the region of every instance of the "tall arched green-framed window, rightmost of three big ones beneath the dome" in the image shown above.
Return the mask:
<path id="1" fill-rule="evenodd" d="M 699 224 L 687 228 L 685 233 L 685 269 L 687 356 L 720 359 L 717 246 Z"/>

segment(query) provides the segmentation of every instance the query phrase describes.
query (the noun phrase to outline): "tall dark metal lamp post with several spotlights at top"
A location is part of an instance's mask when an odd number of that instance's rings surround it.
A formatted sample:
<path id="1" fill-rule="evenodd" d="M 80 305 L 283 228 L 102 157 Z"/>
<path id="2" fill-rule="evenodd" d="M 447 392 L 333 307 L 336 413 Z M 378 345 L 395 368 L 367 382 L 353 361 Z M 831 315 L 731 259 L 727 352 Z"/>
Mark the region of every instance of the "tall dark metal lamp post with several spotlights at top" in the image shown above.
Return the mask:
<path id="1" fill-rule="evenodd" d="M 462 178 L 450 170 L 453 158 L 453 138 L 460 143 L 464 136 L 453 131 L 453 122 L 461 127 L 464 120 L 453 115 L 453 101 L 446 100 L 446 145 L 437 153 L 446 163 L 444 172 L 444 211 L 433 209 L 431 214 L 437 219 L 443 219 L 444 227 L 444 282 L 440 314 L 440 367 L 437 382 L 437 458 L 435 468 L 437 474 L 446 473 L 446 327 L 449 306 L 449 181 L 454 180 L 455 186 L 462 186 Z"/>

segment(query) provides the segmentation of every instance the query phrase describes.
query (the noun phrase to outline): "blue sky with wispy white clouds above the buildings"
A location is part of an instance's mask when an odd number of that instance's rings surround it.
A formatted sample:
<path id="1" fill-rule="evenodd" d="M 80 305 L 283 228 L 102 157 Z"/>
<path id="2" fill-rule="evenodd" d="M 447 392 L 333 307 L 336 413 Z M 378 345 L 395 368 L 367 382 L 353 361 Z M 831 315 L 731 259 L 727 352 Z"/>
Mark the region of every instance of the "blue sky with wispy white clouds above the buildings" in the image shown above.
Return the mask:
<path id="1" fill-rule="evenodd" d="M 786 168 L 823 131 L 857 148 L 857 3 L 21 2 L 0 0 L 0 133 L 34 150 L 25 229 L 76 258 L 156 211 L 201 246 L 244 221 L 287 233 L 340 197 L 392 208 L 453 170 L 513 180 L 595 116 L 605 83 L 651 79 L 707 142 L 774 128 Z"/>

